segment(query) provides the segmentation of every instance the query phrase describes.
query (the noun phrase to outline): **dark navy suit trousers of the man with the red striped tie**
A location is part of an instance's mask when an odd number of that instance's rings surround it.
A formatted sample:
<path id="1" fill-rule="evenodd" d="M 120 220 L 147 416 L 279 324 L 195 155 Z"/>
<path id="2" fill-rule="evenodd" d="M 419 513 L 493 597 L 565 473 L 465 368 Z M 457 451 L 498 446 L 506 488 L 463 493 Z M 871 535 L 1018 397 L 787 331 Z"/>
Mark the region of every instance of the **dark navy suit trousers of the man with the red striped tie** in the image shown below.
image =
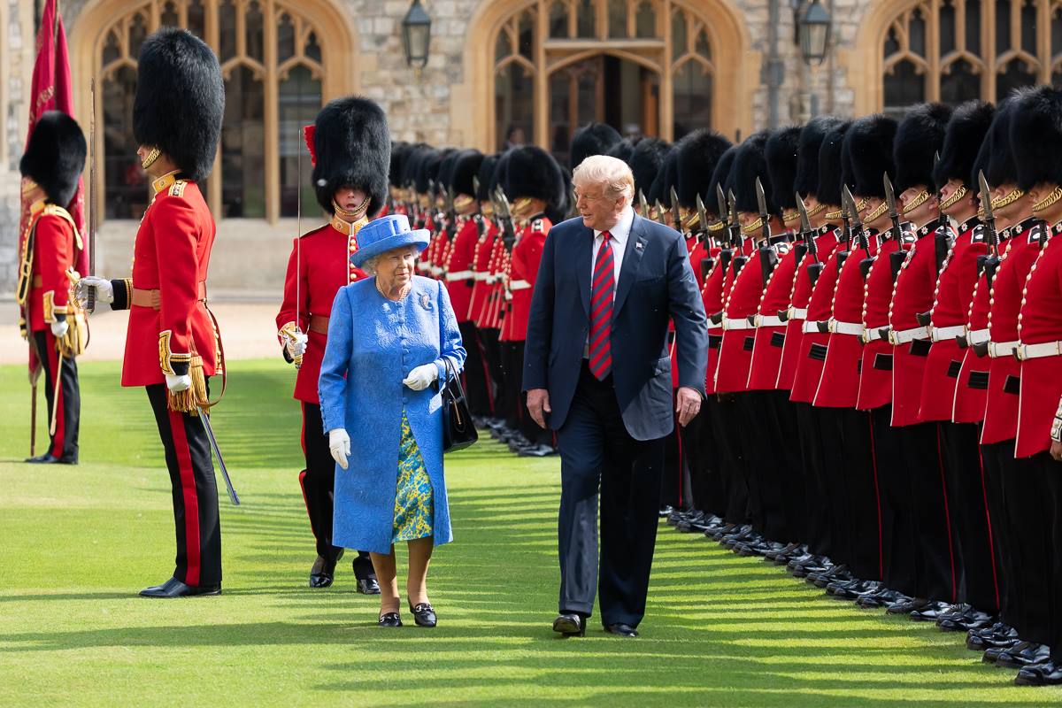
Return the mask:
<path id="1" fill-rule="evenodd" d="M 602 623 L 637 626 L 646 614 L 656 542 L 663 439 L 631 437 L 616 402 L 612 376 L 598 381 L 583 362 L 558 441 L 560 610 L 589 616 L 597 586 Z"/>

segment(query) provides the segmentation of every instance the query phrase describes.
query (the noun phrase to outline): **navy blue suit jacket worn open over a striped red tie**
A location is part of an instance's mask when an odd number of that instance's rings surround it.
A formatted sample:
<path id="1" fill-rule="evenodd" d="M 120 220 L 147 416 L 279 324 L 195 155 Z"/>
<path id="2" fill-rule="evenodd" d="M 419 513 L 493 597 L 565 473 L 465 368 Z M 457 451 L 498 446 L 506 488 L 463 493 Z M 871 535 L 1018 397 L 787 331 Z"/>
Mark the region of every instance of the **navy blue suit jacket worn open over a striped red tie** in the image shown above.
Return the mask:
<path id="1" fill-rule="evenodd" d="M 559 430 L 568 415 L 589 332 L 594 230 L 581 218 L 553 226 L 538 267 L 524 352 L 524 390 L 546 388 Z M 639 441 L 674 427 L 668 321 L 674 321 L 679 385 L 704 395 L 707 318 L 686 242 L 635 215 L 623 253 L 612 322 L 612 370 L 623 425 Z"/>

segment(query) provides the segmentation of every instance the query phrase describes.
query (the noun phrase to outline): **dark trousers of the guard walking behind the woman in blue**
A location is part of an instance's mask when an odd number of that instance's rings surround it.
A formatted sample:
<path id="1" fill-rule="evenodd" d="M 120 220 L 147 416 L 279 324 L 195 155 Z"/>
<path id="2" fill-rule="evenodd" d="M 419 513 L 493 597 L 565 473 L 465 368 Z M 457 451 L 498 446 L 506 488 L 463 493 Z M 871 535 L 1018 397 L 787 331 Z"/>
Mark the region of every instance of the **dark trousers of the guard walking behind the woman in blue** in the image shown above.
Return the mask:
<path id="1" fill-rule="evenodd" d="M 303 455 L 306 457 L 306 469 L 298 473 L 298 485 L 303 488 L 303 501 L 310 517 L 310 530 L 316 539 L 318 555 L 335 563 L 343 551 L 331 542 L 336 461 L 328 450 L 328 436 L 323 428 L 321 407 L 304 402 Z M 358 551 L 354 572 L 358 577 L 375 575 L 366 551 Z"/>

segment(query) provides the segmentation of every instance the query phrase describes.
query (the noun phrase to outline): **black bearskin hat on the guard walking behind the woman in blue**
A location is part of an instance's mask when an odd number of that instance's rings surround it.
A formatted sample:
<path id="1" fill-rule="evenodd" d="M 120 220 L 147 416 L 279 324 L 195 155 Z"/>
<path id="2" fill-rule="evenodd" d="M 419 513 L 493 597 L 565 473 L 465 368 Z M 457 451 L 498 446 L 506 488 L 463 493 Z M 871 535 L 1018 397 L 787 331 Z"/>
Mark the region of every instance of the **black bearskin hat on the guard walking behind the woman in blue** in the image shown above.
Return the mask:
<path id="1" fill-rule="evenodd" d="M 331 213 L 336 190 L 349 185 L 369 195 L 366 215 L 378 214 L 388 196 L 391 166 L 391 134 L 383 109 L 357 96 L 330 101 L 318 114 L 313 144 L 318 155 L 313 186 L 321 207 Z"/>

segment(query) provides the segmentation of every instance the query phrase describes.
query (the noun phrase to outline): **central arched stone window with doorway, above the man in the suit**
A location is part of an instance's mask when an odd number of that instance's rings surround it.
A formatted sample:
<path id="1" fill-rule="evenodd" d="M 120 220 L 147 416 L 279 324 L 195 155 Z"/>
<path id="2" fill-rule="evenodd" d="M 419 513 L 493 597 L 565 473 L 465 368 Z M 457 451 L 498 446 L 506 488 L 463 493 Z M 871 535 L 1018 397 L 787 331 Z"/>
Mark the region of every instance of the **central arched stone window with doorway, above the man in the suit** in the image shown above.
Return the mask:
<path id="1" fill-rule="evenodd" d="M 481 94 L 491 150 L 534 142 L 566 161 L 572 132 L 589 121 L 668 140 L 699 127 L 734 135 L 751 122 L 744 106 L 755 84 L 741 81 L 744 25 L 721 3 L 490 4 L 481 14 L 494 19 L 483 20 L 491 24 L 482 34 L 474 21 L 470 44 L 493 52 Z M 725 109 L 717 97 L 726 97 Z"/>

